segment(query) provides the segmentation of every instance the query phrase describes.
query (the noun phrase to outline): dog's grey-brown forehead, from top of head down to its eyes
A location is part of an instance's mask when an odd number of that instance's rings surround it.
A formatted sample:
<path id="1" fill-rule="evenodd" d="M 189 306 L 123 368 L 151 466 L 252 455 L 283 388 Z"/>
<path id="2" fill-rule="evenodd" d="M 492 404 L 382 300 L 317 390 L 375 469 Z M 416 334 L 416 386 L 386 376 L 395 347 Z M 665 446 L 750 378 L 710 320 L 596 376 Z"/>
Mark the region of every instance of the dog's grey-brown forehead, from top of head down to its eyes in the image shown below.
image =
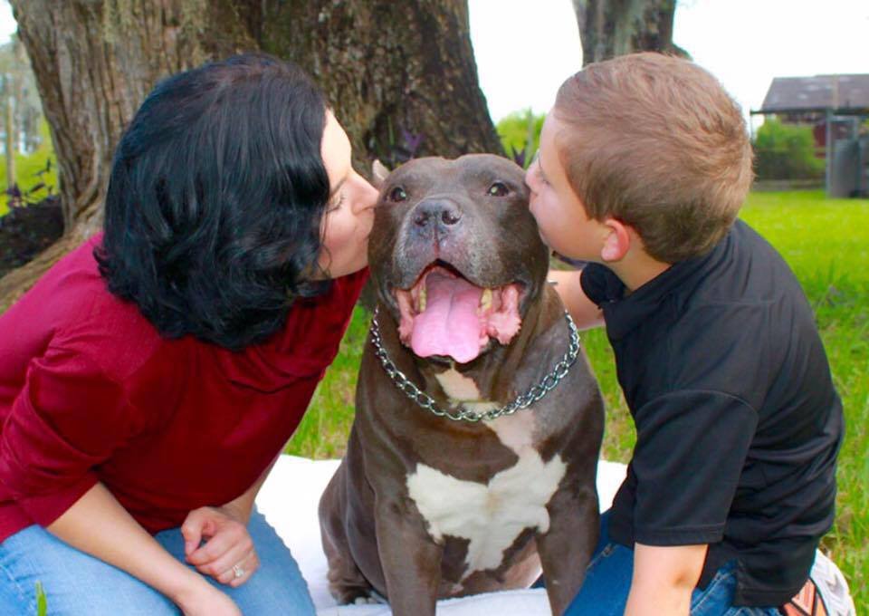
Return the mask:
<path id="1" fill-rule="evenodd" d="M 458 193 L 474 198 L 497 195 L 503 188 L 527 198 L 524 178 L 524 172 L 516 163 L 493 154 L 466 154 L 454 160 L 414 159 L 386 178 L 381 199 L 388 202 L 403 197 L 402 200 L 414 202 L 433 194 Z"/>

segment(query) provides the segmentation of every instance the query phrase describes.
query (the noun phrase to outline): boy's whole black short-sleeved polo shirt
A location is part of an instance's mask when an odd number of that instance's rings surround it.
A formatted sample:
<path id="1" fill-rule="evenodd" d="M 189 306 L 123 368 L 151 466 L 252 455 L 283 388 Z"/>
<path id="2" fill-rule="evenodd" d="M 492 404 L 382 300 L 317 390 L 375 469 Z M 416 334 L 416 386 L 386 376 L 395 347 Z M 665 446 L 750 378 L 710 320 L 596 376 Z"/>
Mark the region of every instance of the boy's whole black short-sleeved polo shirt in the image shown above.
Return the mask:
<path id="1" fill-rule="evenodd" d="M 778 606 L 833 524 L 842 405 L 805 294 L 738 221 L 708 255 L 625 295 L 581 274 L 604 312 L 636 447 L 613 502 L 619 544 L 709 544 L 700 585 L 738 562 L 736 605 Z"/>

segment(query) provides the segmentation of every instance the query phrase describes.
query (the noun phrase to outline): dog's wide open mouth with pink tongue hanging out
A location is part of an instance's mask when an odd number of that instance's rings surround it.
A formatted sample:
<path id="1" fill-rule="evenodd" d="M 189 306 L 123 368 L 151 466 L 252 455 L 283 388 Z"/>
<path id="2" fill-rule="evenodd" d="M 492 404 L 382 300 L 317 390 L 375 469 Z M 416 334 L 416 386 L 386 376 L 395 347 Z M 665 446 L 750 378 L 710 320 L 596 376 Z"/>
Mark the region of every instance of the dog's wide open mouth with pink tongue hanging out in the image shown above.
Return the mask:
<path id="1" fill-rule="evenodd" d="M 444 261 L 428 265 L 410 289 L 395 289 L 398 334 L 418 357 L 466 363 L 490 342 L 509 344 L 520 330 L 523 285 L 482 287 Z"/>

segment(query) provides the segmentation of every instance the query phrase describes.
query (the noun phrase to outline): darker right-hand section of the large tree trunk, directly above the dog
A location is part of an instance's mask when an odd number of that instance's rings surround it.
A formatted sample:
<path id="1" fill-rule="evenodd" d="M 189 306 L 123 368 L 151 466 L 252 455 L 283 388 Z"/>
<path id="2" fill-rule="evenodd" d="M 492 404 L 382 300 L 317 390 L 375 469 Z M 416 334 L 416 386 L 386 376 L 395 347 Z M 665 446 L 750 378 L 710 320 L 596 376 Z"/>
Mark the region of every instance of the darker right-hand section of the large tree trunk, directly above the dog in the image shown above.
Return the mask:
<path id="1" fill-rule="evenodd" d="M 263 49 L 311 72 L 358 163 L 502 153 L 477 81 L 466 0 L 264 6 Z"/>

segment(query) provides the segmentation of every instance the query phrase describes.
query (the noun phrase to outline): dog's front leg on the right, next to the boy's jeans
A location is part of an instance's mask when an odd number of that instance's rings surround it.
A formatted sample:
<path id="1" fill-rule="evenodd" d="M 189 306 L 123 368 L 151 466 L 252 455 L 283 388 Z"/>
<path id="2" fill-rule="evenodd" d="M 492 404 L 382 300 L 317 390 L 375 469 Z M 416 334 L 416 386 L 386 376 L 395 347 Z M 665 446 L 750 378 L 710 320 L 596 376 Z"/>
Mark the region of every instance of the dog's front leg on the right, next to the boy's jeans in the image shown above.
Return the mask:
<path id="1" fill-rule="evenodd" d="M 597 491 L 560 489 L 552 496 L 549 531 L 538 534 L 537 548 L 549 607 L 561 616 L 586 579 L 586 568 L 597 545 L 599 513 Z"/>

